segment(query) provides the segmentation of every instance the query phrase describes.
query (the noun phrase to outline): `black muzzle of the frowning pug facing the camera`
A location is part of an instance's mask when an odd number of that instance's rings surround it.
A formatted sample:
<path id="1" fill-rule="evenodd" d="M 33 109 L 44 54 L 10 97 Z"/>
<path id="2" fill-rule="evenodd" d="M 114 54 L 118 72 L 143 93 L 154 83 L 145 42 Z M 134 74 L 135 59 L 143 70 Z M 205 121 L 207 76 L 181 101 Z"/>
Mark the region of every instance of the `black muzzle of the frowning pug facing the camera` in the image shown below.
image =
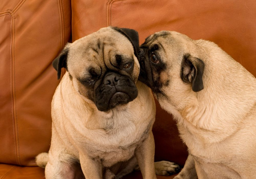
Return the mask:
<path id="1" fill-rule="evenodd" d="M 101 85 L 95 92 L 95 104 L 98 110 L 108 111 L 116 106 L 126 104 L 138 96 L 133 80 L 116 72 L 105 74 Z"/>

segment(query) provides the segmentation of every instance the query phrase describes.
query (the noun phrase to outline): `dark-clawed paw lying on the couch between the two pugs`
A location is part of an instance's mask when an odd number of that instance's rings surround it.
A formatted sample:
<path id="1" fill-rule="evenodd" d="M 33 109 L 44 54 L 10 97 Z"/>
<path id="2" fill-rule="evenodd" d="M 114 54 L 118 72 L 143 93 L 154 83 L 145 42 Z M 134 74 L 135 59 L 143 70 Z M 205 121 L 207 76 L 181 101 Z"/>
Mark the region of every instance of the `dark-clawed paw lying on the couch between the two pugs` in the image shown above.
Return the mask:
<path id="1" fill-rule="evenodd" d="M 181 170 L 180 166 L 174 162 L 160 161 L 155 162 L 156 175 L 173 175 Z"/>

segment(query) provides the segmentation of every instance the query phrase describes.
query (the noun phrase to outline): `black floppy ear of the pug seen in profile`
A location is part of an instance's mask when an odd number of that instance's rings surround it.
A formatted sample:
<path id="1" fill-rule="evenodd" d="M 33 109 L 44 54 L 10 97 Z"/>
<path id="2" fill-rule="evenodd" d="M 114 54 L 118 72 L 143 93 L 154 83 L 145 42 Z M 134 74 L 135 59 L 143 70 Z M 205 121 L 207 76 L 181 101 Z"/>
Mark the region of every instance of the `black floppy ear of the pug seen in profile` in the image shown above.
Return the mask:
<path id="1" fill-rule="evenodd" d="M 204 63 L 201 59 L 186 54 L 181 62 L 181 79 L 185 83 L 192 83 L 194 92 L 203 89 Z"/>

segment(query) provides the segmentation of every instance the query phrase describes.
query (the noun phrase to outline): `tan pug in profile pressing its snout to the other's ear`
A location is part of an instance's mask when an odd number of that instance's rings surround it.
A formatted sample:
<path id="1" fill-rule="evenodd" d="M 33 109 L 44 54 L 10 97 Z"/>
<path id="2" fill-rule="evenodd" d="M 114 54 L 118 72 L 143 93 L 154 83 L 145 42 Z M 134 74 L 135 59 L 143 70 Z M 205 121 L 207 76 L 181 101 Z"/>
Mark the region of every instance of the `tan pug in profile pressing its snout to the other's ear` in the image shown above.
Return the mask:
<path id="1" fill-rule="evenodd" d="M 174 178 L 256 178 L 255 77 L 213 42 L 173 31 L 146 38 L 139 57 L 139 80 L 188 146 Z"/>

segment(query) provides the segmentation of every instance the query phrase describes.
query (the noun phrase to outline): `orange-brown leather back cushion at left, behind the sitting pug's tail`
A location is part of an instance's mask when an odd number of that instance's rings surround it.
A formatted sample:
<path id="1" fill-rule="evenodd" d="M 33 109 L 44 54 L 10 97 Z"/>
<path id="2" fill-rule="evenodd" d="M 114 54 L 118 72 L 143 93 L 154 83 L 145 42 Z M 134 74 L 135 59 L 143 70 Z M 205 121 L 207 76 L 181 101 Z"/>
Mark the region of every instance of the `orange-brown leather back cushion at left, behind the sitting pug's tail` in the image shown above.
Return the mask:
<path id="1" fill-rule="evenodd" d="M 51 140 L 51 63 L 70 37 L 70 1 L 1 1 L 0 27 L 0 162 L 34 166 Z"/>

